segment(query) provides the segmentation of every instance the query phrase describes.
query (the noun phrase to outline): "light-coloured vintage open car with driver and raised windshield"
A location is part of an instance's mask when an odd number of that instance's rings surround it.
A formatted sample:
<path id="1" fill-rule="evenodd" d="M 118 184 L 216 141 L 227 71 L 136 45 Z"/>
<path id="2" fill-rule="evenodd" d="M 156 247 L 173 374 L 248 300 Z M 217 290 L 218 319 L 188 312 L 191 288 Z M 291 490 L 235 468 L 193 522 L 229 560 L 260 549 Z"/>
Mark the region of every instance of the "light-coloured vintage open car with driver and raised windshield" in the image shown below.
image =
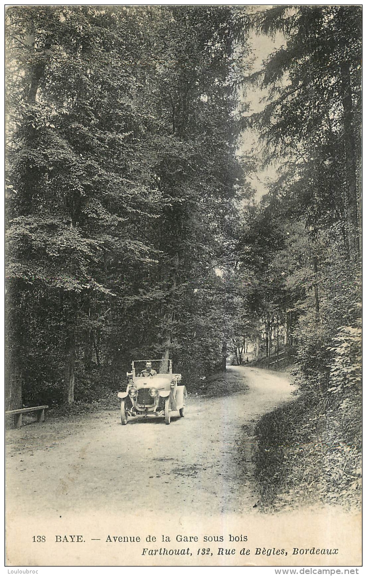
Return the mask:
<path id="1" fill-rule="evenodd" d="M 134 360 L 131 367 L 126 391 L 118 393 L 123 425 L 128 416 L 164 416 L 166 424 L 172 412 L 183 416 L 187 391 L 181 374 L 172 372 L 172 360 Z"/>

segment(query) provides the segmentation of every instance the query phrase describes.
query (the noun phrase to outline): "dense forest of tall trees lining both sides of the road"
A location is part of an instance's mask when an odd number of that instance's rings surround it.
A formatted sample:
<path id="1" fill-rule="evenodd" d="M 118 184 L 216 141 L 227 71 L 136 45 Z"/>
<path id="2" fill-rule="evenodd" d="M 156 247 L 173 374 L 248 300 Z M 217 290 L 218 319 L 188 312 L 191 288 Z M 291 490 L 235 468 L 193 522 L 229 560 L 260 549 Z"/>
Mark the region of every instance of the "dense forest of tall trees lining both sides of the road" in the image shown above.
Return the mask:
<path id="1" fill-rule="evenodd" d="M 361 7 L 13 6 L 6 46 L 6 409 L 250 357 L 358 423 Z"/>

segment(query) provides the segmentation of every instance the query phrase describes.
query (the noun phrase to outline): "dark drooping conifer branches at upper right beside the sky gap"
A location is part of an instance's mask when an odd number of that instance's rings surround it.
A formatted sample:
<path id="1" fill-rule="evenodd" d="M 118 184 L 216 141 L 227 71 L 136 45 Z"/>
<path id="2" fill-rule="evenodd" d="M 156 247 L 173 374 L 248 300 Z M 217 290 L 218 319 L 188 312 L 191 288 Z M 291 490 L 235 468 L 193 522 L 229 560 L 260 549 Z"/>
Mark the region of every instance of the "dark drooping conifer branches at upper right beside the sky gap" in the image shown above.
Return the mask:
<path id="1" fill-rule="evenodd" d="M 266 158 L 282 158 L 274 191 L 315 228 L 337 226 L 346 253 L 360 253 L 361 9 L 277 6 L 257 29 L 285 36 L 253 78 L 268 90 L 256 124 Z"/>

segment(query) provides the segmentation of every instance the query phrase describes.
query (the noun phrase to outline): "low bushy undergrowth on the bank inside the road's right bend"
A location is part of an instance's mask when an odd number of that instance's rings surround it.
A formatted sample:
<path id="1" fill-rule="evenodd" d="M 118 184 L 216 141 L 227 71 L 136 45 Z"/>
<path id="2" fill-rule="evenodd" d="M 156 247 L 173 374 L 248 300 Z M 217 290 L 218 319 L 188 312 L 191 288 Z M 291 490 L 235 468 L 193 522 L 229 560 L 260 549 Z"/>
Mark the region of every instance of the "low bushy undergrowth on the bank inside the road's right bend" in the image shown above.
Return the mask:
<path id="1" fill-rule="evenodd" d="M 355 400 L 326 407 L 301 395 L 263 416 L 255 456 L 263 511 L 360 507 L 361 412 Z"/>

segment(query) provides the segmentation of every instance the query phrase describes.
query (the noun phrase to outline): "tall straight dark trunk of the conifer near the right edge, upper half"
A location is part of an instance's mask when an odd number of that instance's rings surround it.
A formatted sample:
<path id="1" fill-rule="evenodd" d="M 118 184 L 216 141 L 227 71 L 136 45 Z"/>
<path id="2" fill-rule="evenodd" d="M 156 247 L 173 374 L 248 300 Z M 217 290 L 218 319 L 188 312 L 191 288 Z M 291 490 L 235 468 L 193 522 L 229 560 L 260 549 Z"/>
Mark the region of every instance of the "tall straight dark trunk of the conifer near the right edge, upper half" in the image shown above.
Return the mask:
<path id="1" fill-rule="evenodd" d="M 354 258 L 360 253 L 360 235 L 358 232 L 360 226 L 358 222 L 358 195 L 353 122 L 354 114 L 349 63 L 340 63 L 340 73 L 342 80 L 343 126 L 345 138 L 346 179 L 348 187 L 348 244 L 350 256 Z"/>

